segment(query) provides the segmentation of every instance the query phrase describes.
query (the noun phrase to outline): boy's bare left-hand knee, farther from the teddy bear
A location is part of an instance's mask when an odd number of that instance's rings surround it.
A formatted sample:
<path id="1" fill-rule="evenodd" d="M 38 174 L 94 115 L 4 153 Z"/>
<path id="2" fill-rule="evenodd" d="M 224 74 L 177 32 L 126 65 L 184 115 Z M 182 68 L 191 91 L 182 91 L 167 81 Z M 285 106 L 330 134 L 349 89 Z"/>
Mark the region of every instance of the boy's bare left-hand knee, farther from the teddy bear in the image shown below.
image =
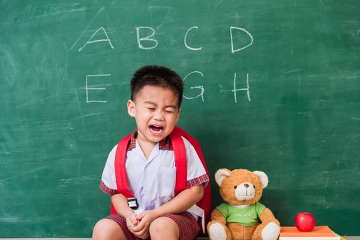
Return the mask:
<path id="1" fill-rule="evenodd" d="M 93 239 L 126 239 L 117 223 L 111 219 L 101 219 L 93 228 Z"/>

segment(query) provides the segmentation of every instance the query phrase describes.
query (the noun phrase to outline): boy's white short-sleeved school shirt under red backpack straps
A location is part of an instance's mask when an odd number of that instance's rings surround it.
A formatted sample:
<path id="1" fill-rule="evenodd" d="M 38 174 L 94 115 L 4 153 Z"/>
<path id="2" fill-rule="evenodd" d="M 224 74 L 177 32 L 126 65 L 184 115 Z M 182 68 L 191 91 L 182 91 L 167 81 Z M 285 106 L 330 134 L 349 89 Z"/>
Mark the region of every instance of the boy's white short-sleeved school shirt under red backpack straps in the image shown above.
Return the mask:
<path id="1" fill-rule="evenodd" d="M 181 136 L 185 145 L 187 160 L 187 180 L 199 178 L 206 174 L 196 150 L 191 143 Z M 109 189 L 116 190 L 115 152 L 117 145 L 111 150 L 102 173 L 102 182 Z M 157 143 L 146 160 L 139 143 L 126 153 L 126 177 L 131 193 L 137 198 L 139 208 L 135 213 L 153 210 L 175 197 L 176 168 L 174 151 L 160 150 Z M 204 183 L 206 187 L 207 182 Z M 203 211 L 196 204 L 188 209 L 194 217 L 203 217 Z M 204 217 L 203 217 L 204 219 Z"/>

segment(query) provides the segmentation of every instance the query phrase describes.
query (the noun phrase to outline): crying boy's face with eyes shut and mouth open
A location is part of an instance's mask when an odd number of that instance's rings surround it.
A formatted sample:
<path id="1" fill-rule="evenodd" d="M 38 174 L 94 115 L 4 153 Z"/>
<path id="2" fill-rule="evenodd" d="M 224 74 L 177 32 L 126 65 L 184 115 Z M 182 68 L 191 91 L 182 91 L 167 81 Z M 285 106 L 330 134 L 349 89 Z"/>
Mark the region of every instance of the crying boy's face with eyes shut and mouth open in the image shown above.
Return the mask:
<path id="1" fill-rule="evenodd" d="M 177 94 L 168 88 L 146 85 L 128 100 L 128 114 L 135 117 L 137 141 L 157 143 L 168 136 L 179 120 Z"/>

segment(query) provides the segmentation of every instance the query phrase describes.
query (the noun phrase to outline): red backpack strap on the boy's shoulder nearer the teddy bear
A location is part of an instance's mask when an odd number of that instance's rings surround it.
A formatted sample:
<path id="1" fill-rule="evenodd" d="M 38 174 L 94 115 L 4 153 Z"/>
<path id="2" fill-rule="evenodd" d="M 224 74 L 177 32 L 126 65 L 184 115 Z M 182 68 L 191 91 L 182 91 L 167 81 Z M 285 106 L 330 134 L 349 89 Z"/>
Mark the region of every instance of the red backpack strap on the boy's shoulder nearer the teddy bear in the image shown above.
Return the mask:
<path id="1" fill-rule="evenodd" d="M 188 188 L 187 184 L 187 165 L 186 151 L 181 134 L 174 129 L 170 134 L 172 148 L 174 149 L 175 167 L 177 168 L 175 195 Z"/>

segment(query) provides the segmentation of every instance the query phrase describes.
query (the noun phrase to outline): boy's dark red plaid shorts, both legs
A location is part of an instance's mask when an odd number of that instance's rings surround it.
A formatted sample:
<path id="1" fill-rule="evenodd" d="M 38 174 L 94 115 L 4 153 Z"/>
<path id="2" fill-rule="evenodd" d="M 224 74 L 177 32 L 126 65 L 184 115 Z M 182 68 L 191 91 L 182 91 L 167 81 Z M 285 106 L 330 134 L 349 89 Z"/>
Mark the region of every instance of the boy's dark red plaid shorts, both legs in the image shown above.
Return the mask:
<path id="1" fill-rule="evenodd" d="M 196 239 L 196 236 L 200 232 L 200 226 L 196 222 L 195 217 L 188 212 L 181 214 L 166 214 L 163 217 L 168 217 L 176 222 L 177 226 L 179 227 L 179 240 Z M 109 217 L 106 217 L 106 219 L 116 221 L 120 228 L 122 228 L 122 231 L 128 240 L 139 239 L 133 235 L 130 230 L 128 230 L 128 227 L 126 226 L 126 219 L 122 215 L 113 214 Z"/>

